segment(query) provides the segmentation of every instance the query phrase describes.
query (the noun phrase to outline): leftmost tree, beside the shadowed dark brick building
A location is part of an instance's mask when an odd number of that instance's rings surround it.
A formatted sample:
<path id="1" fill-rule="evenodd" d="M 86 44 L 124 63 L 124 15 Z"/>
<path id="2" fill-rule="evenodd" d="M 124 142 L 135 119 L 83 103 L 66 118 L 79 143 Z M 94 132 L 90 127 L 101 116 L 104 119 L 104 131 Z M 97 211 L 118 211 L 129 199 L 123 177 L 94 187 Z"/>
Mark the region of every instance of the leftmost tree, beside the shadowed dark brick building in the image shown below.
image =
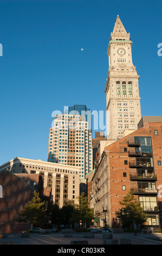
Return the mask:
<path id="1" fill-rule="evenodd" d="M 42 202 L 38 192 L 34 191 L 34 197 L 25 204 L 22 212 L 18 214 L 16 221 L 31 224 L 31 228 L 33 224 L 38 224 L 42 227 L 42 225 L 48 222 L 44 204 L 45 202 Z"/>

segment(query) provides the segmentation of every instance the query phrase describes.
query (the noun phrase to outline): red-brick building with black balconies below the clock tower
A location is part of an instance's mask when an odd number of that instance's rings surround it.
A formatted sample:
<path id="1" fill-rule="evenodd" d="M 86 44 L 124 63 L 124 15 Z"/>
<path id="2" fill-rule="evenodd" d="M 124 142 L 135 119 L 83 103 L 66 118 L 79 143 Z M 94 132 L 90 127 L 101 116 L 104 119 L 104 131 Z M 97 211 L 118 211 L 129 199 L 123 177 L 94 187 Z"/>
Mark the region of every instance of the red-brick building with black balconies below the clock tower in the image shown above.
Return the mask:
<path id="1" fill-rule="evenodd" d="M 104 225 L 102 205 L 110 228 L 119 227 L 115 211 L 132 189 L 148 219 L 145 227 L 162 227 L 162 117 L 142 117 L 139 129 L 107 147 L 93 176 L 94 214 Z"/>

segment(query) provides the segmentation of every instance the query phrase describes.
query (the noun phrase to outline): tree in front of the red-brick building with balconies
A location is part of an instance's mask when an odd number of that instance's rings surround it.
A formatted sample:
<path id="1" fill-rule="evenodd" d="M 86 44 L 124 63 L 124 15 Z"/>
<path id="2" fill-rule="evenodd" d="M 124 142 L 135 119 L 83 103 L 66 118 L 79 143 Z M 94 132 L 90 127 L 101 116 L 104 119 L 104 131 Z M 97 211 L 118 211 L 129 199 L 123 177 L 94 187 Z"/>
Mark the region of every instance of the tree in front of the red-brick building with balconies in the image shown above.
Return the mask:
<path id="1" fill-rule="evenodd" d="M 115 215 L 119 218 L 122 225 L 129 225 L 129 227 L 131 227 L 133 223 L 139 225 L 146 222 L 147 215 L 142 212 L 140 202 L 134 198 L 132 190 L 130 190 L 119 203 L 122 205 L 122 208 L 119 209 Z"/>

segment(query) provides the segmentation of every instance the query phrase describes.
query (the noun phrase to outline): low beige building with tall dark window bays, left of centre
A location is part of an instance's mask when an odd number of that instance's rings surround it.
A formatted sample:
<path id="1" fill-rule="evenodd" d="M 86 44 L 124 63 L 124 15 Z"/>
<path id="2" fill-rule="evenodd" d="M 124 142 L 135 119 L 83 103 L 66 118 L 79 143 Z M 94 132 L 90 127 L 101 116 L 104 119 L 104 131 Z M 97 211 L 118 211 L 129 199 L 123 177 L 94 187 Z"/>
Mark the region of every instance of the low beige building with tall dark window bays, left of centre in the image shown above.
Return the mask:
<path id="1" fill-rule="evenodd" d="M 67 200 L 79 203 L 80 167 L 16 157 L 0 166 L 0 173 L 7 169 L 40 193 L 43 188 L 43 195 L 60 208 Z"/>

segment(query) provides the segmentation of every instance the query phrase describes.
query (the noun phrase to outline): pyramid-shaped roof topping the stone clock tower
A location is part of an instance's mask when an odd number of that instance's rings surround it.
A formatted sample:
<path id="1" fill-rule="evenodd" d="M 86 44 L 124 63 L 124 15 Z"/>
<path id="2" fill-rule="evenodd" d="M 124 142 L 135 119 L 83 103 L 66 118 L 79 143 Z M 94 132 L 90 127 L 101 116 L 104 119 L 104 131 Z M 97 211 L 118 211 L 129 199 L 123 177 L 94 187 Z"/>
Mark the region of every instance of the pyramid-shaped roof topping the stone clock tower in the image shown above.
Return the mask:
<path id="1" fill-rule="evenodd" d="M 117 15 L 114 30 L 111 33 L 111 40 L 119 40 L 119 39 L 129 40 L 129 37 L 130 37 L 130 33 L 126 32 L 126 29 L 122 25 L 119 15 Z"/>

